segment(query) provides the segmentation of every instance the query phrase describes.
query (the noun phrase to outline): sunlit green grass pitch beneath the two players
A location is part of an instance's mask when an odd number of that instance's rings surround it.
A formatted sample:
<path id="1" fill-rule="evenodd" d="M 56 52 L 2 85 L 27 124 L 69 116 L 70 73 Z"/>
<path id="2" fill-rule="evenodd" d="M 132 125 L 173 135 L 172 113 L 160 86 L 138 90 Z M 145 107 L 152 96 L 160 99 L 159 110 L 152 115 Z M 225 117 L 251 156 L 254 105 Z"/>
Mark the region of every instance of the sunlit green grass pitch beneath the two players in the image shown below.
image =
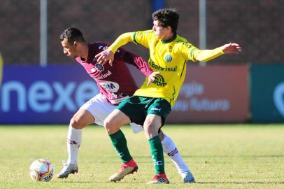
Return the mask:
<path id="1" fill-rule="evenodd" d="M 163 130 L 175 141 L 197 183 L 184 184 L 164 155 L 171 183 L 150 188 L 284 188 L 284 125 L 166 125 Z M 121 162 L 103 127 L 83 130 L 79 172 L 62 180 L 56 174 L 67 158 L 67 126 L 2 125 L 0 188 L 145 188 L 155 174 L 148 141 L 129 126 L 122 131 L 139 172 L 111 183 L 108 176 Z M 37 158 L 55 166 L 48 183 L 29 178 L 29 165 Z"/>

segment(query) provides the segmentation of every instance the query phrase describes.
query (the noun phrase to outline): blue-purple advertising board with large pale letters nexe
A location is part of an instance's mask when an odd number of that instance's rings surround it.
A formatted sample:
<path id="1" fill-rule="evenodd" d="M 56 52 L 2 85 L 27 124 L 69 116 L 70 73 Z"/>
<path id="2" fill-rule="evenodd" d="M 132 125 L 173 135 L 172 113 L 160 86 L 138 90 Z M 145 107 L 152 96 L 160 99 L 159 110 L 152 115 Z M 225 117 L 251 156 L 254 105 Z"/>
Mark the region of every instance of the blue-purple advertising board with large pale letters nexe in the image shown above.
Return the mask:
<path id="1" fill-rule="evenodd" d="M 4 66 L 0 124 L 69 123 L 97 93 L 97 84 L 80 65 Z"/>

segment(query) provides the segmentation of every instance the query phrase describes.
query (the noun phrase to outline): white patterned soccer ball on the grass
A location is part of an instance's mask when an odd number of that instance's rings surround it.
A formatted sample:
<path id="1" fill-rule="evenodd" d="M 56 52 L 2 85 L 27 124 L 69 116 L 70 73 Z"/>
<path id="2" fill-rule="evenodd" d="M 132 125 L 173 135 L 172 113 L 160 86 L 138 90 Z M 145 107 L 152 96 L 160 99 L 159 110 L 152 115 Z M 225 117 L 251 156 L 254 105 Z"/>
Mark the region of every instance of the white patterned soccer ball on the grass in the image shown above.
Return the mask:
<path id="1" fill-rule="evenodd" d="M 38 159 L 29 166 L 29 176 L 34 181 L 48 182 L 52 179 L 54 167 L 50 161 Z"/>

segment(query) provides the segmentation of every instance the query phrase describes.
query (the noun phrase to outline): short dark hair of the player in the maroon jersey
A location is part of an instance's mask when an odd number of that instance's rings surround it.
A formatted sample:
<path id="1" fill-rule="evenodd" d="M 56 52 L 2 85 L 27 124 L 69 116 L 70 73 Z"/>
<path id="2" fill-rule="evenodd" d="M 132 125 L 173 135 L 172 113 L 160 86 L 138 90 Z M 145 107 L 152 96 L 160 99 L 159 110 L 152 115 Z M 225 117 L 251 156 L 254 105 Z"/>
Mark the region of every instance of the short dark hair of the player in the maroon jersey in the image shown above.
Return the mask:
<path id="1" fill-rule="evenodd" d="M 65 29 L 60 35 L 60 40 L 63 41 L 64 38 L 66 38 L 70 44 L 73 44 L 74 41 L 85 43 L 85 38 L 83 37 L 82 32 L 76 27 L 69 27 Z"/>

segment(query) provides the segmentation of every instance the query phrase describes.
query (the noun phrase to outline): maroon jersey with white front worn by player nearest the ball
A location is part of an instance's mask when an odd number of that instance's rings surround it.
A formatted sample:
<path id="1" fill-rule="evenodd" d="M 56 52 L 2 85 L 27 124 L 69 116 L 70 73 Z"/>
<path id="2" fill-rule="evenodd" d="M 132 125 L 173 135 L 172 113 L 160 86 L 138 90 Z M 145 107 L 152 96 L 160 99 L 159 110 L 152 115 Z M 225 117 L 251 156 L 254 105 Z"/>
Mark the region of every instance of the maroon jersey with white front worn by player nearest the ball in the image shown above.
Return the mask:
<path id="1" fill-rule="evenodd" d="M 99 91 L 113 105 L 118 105 L 123 99 L 132 96 L 138 89 L 127 64 L 136 66 L 145 76 L 149 76 L 152 70 L 141 57 L 119 48 L 115 52 L 113 66 L 106 63 L 101 65 L 94 58 L 99 52 L 106 50 L 106 43 L 94 42 L 88 44 L 88 57 L 77 57 L 76 61 L 84 66 L 89 75 L 97 82 Z"/>

